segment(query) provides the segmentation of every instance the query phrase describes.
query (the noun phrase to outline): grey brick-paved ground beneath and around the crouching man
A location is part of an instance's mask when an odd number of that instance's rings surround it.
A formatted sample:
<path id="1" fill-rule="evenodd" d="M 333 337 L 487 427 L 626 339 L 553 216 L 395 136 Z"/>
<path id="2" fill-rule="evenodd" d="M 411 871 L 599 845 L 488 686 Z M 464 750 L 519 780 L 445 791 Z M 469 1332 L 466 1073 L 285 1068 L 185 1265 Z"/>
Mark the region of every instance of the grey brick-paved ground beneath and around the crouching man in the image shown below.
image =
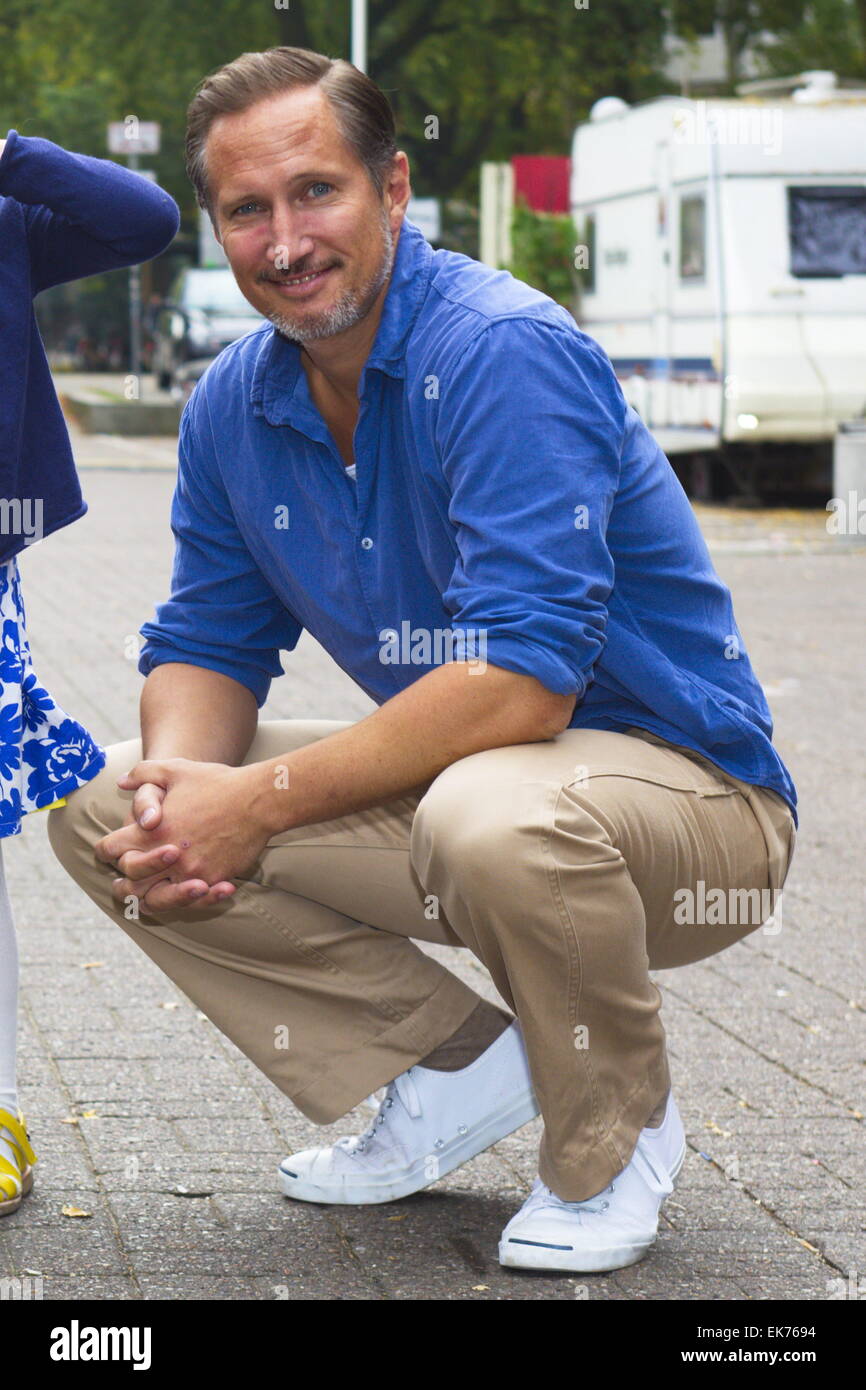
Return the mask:
<path id="1" fill-rule="evenodd" d="M 138 730 L 126 653 L 167 592 L 172 477 L 86 471 L 83 485 L 89 514 L 21 557 L 24 596 L 40 678 L 114 742 Z M 592 1301 L 826 1300 L 835 1280 L 866 1276 L 866 555 L 765 549 L 723 545 L 716 563 L 801 791 L 799 844 L 777 935 L 657 977 L 688 1156 L 642 1264 L 575 1277 L 500 1269 L 539 1122 L 398 1204 L 288 1202 L 279 1159 L 368 1112 L 309 1123 L 96 913 L 31 816 L 3 855 L 40 1162 L 33 1195 L 0 1223 L 0 1277 L 42 1276 L 50 1300 Z M 311 641 L 285 663 L 263 717 L 373 708 Z M 468 952 L 430 949 L 495 997 Z"/>

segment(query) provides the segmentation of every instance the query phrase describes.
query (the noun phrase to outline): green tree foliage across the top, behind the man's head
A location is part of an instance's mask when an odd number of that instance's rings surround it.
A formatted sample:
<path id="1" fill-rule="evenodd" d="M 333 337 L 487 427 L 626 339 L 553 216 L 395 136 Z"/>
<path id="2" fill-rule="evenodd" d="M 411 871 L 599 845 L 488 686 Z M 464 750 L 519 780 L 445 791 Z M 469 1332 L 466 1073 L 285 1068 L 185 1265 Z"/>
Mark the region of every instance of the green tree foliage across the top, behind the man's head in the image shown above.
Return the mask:
<path id="1" fill-rule="evenodd" d="M 278 43 L 348 57 L 349 15 L 349 0 L 286 0 L 285 8 L 3 0 L 0 129 L 104 156 L 108 121 L 160 121 L 153 167 L 189 215 L 183 126 L 199 81 L 239 53 Z M 598 97 L 635 101 L 666 90 L 667 25 L 694 38 L 714 19 L 731 82 L 745 46 L 765 31 L 781 40 L 769 50 L 774 71 L 794 61 L 863 72 L 866 0 L 591 0 L 587 8 L 571 0 L 370 0 L 370 72 L 395 106 L 414 190 L 471 202 L 481 160 L 569 153 L 574 125 Z"/>

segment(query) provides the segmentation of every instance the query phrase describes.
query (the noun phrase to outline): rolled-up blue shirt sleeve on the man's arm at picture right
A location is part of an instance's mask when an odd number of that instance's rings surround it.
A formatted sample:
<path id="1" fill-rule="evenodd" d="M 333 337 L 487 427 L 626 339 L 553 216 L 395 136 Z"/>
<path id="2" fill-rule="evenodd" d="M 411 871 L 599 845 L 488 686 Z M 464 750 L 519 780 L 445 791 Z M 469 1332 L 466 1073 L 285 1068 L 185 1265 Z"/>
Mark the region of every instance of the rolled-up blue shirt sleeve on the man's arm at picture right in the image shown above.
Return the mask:
<path id="1" fill-rule="evenodd" d="M 578 701 L 605 645 L 626 413 L 598 343 L 534 318 L 489 324 L 438 402 L 452 628 L 481 634 L 491 664 Z"/>

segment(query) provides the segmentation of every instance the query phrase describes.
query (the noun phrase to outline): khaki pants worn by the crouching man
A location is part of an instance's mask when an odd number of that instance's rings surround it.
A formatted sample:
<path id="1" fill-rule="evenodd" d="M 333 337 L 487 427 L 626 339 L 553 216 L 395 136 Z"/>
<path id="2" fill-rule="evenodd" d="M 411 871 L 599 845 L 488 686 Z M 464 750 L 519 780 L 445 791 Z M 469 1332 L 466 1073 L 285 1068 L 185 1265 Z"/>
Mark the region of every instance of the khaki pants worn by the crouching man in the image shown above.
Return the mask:
<path id="1" fill-rule="evenodd" d="M 246 762 L 346 727 L 263 723 Z M 93 845 L 122 824 L 131 792 L 115 780 L 139 759 L 138 739 L 115 744 L 49 816 L 57 858 L 93 902 L 321 1125 L 478 1002 L 411 938 L 468 947 L 520 1019 L 545 1125 L 539 1175 L 566 1201 L 626 1166 L 670 1086 L 649 970 L 759 929 L 794 852 L 774 792 L 641 730 L 570 728 L 459 759 L 420 798 L 275 835 L 209 917 L 135 922 Z"/>

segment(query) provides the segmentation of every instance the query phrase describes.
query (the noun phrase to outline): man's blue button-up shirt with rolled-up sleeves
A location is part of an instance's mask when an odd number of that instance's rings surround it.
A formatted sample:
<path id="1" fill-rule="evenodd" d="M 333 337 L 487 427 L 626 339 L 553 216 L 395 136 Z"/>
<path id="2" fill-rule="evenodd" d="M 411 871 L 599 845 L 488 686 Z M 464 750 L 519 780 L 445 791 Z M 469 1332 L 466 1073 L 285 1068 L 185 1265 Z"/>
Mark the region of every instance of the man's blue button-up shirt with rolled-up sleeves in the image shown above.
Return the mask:
<path id="1" fill-rule="evenodd" d="M 270 324 L 181 420 L 171 596 L 139 670 L 189 662 L 259 706 L 307 628 L 377 703 L 449 659 L 575 695 L 794 809 L 731 596 L 602 348 L 506 271 L 400 231 L 359 382 L 356 478 Z"/>

